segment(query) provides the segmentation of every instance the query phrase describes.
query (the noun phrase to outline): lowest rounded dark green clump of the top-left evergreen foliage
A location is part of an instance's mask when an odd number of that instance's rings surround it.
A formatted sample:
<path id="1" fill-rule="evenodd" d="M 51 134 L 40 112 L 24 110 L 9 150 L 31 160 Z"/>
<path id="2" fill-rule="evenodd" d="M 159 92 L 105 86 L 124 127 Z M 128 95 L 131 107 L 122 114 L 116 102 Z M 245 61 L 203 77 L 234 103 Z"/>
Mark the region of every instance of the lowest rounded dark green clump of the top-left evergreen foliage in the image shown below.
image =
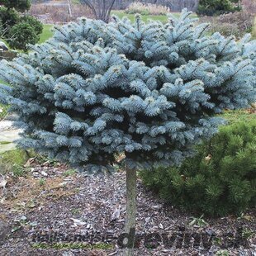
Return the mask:
<path id="1" fill-rule="evenodd" d="M 27 45 L 35 45 L 39 41 L 39 36 L 36 35 L 33 27 L 29 23 L 21 22 L 9 31 L 9 36 L 12 40 L 9 40 L 9 45 L 13 49 L 27 50 Z"/>

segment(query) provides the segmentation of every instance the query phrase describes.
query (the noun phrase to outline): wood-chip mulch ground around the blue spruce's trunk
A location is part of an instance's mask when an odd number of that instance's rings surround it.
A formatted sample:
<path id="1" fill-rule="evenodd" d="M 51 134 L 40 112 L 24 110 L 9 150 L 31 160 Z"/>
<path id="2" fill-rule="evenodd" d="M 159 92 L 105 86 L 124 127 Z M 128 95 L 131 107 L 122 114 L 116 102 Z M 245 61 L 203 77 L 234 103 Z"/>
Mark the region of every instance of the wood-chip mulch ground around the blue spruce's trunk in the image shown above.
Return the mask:
<path id="1" fill-rule="evenodd" d="M 122 255 L 116 241 L 125 224 L 125 173 L 93 178 L 35 160 L 26 164 L 26 177 L 9 174 L 0 180 L 0 255 Z M 223 249 L 230 255 L 255 255 L 255 211 L 239 218 L 204 218 L 208 224 L 202 226 L 200 221 L 189 225 L 191 220 L 139 181 L 136 234 L 141 237 L 135 255 L 216 255 Z M 175 242 L 169 239 L 173 246 L 168 247 L 154 237 L 145 243 L 149 233 L 158 233 L 161 239 L 173 235 Z M 89 250 L 88 243 L 73 243 L 74 235 L 88 234 L 107 234 L 109 243 L 94 239 Z M 61 235 L 66 235 L 65 245 L 57 244 Z"/>

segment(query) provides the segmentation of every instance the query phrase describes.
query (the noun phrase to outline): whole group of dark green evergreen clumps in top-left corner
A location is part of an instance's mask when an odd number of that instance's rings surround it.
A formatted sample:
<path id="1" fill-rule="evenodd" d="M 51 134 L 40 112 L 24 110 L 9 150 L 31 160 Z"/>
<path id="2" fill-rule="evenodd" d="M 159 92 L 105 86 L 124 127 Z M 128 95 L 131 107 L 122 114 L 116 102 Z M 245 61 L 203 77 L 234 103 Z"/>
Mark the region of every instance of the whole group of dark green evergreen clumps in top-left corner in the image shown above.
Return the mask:
<path id="1" fill-rule="evenodd" d="M 42 23 L 35 17 L 20 14 L 31 7 L 30 1 L 0 1 L 0 6 L 0 23 L 5 31 L 3 37 L 13 49 L 27 50 L 28 44 L 34 45 L 39 41 Z"/>

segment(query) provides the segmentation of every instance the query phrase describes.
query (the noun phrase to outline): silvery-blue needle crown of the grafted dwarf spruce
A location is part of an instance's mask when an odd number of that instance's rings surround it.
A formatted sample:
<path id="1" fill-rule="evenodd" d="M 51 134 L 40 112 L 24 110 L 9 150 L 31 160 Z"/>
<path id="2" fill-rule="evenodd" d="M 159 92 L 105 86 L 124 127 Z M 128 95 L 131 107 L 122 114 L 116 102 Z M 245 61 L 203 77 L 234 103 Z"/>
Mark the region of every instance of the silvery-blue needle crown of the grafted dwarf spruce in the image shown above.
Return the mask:
<path id="1" fill-rule="evenodd" d="M 130 168 L 173 165 L 216 132 L 223 109 L 255 101 L 256 41 L 136 17 L 82 18 L 28 55 L 2 62 L 0 102 L 25 129 L 20 145 L 92 172 L 125 153 Z"/>

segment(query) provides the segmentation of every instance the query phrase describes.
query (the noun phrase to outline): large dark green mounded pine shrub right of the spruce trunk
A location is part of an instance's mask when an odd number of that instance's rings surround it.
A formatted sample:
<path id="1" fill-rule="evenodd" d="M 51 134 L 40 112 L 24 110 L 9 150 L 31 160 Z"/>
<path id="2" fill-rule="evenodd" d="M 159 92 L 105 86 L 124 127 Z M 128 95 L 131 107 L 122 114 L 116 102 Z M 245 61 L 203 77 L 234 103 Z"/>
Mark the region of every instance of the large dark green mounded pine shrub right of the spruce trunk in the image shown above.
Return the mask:
<path id="1" fill-rule="evenodd" d="M 240 213 L 256 203 L 256 120 L 223 126 L 180 168 L 140 173 L 160 197 L 208 216 Z"/>

